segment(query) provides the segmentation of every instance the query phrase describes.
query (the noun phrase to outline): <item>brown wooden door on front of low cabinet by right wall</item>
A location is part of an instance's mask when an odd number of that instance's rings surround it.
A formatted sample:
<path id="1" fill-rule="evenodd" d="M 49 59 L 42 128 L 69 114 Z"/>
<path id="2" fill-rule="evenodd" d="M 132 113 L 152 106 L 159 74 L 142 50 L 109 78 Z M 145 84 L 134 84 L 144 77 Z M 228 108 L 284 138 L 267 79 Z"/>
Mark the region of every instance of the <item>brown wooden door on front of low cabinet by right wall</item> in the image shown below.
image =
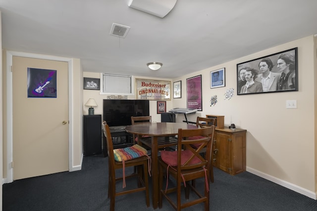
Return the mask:
<path id="1" fill-rule="evenodd" d="M 230 166 L 230 135 L 224 133 L 215 133 L 215 166 L 223 171 L 228 172 Z"/>

